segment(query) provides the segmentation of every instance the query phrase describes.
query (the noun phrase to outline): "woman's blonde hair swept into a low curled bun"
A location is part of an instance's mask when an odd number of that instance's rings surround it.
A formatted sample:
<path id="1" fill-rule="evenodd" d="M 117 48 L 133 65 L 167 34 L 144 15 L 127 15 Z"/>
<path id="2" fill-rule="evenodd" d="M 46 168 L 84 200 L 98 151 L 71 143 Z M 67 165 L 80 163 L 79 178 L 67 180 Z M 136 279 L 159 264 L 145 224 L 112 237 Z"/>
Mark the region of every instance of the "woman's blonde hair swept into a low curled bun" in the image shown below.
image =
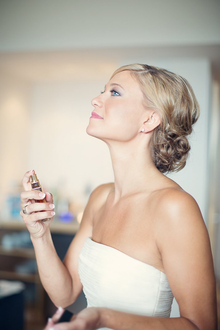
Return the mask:
<path id="1" fill-rule="evenodd" d="M 181 76 L 146 64 L 122 66 L 112 77 L 124 70 L 138 82 L 144 106 L 155 110 L 161 119 L 151 137 L 153 162 L 161 173 L 181 170 L 190 151 L 186 137 L 200 114 L 192 87 Z"/>

